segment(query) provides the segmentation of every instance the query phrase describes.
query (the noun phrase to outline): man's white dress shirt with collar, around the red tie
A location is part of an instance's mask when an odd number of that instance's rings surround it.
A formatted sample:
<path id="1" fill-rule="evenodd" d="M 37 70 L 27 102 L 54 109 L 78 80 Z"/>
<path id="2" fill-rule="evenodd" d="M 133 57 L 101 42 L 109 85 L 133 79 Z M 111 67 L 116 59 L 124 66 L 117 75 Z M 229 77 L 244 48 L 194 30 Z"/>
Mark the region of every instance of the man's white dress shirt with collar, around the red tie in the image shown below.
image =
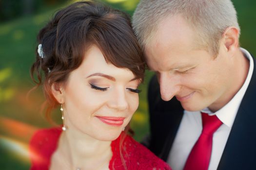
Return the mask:
<path id="1" fill-rule="evenodd" d="M 240 50 L 250 61 L 249 71 L 244 84 L 232 98 L 232 100 L 217 112 L 212 113 L 208 108 L 201 110 L 201 112 L 207 113 L 209 115 L 216 115 L 218 119 L 220 119 L 220 121 L 223 123 L 213 136 L 213 148 L 208 170 L 217 170 L 221 155 L 224 151 L 228 136 L 236 118 L 237 110 L 253 74 L 253 57 L 245 49 L 240 48 Z M 187 157 L 197 142 L 201 131 L 202 120 L 200 111 L 190 112 L 184 110 L 184 116 L 180 122 L 177 136 L 175 137 L 172 149 L 167 159 L 168 164 L 172 167 L 173 170 L 183 169 Z"/>

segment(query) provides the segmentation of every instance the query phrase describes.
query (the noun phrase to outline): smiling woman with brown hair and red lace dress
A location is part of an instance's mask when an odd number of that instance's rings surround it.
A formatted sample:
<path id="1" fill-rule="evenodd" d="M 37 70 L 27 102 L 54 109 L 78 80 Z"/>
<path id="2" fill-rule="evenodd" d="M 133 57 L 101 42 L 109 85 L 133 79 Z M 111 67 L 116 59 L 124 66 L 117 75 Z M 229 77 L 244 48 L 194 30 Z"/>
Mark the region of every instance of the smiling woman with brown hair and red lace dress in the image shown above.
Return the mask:
<path id="1" fill-rule="evenodd" d="M 32 137 L 31 170 L 170 169 L 126 135 L 145 68 L 129 17 L 77 2 L 60 10 L 38 41 L 32 79 L 43 85 L 48 113 L 60 106 L 63 125 Z"/>

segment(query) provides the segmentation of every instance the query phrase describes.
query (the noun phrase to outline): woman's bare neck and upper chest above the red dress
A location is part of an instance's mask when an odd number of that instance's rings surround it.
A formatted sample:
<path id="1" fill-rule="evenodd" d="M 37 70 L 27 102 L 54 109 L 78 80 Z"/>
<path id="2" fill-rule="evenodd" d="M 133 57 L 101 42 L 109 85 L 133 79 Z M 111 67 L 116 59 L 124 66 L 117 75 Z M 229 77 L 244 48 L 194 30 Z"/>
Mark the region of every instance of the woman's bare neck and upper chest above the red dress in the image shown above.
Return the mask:
<path id="1" fill-rule="evenodd" d="M 73 129 L 64 131 L 59 139 L 58 150 L 69 164 L 67 166 L 81 170 L 108 167 L 112 157 L 111 141 L 100 141 Z"/>

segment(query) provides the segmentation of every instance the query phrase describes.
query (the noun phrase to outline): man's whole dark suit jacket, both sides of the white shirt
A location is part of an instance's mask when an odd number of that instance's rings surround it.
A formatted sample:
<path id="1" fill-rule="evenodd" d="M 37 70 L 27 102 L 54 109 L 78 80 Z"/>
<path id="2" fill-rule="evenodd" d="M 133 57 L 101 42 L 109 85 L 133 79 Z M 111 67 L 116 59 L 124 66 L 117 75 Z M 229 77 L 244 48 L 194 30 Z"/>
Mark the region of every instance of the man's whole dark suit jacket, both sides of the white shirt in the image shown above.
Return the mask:
<path id="1" fill-rule="evenodd" d="M 148 148 L 167 161 L 180 121 L 181 104 L 161 100 L 156 76 L 148 91 L 151 139 Z M 256 63 L 217 170 L 256 170 Z"/>

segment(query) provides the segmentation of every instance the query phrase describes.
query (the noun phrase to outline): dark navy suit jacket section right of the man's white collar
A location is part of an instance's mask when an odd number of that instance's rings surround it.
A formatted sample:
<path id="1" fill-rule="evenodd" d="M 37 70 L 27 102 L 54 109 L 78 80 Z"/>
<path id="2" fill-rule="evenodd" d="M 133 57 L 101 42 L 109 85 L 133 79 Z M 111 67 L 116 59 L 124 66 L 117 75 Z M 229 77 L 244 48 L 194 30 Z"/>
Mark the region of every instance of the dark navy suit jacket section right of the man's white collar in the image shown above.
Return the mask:
<path id="1" fill-rule="evenodd" d="M 255 59 L 254 59 L 254 66 Z M 256 170 L 256 68 L 240 104 L 217 170 Z"/>

